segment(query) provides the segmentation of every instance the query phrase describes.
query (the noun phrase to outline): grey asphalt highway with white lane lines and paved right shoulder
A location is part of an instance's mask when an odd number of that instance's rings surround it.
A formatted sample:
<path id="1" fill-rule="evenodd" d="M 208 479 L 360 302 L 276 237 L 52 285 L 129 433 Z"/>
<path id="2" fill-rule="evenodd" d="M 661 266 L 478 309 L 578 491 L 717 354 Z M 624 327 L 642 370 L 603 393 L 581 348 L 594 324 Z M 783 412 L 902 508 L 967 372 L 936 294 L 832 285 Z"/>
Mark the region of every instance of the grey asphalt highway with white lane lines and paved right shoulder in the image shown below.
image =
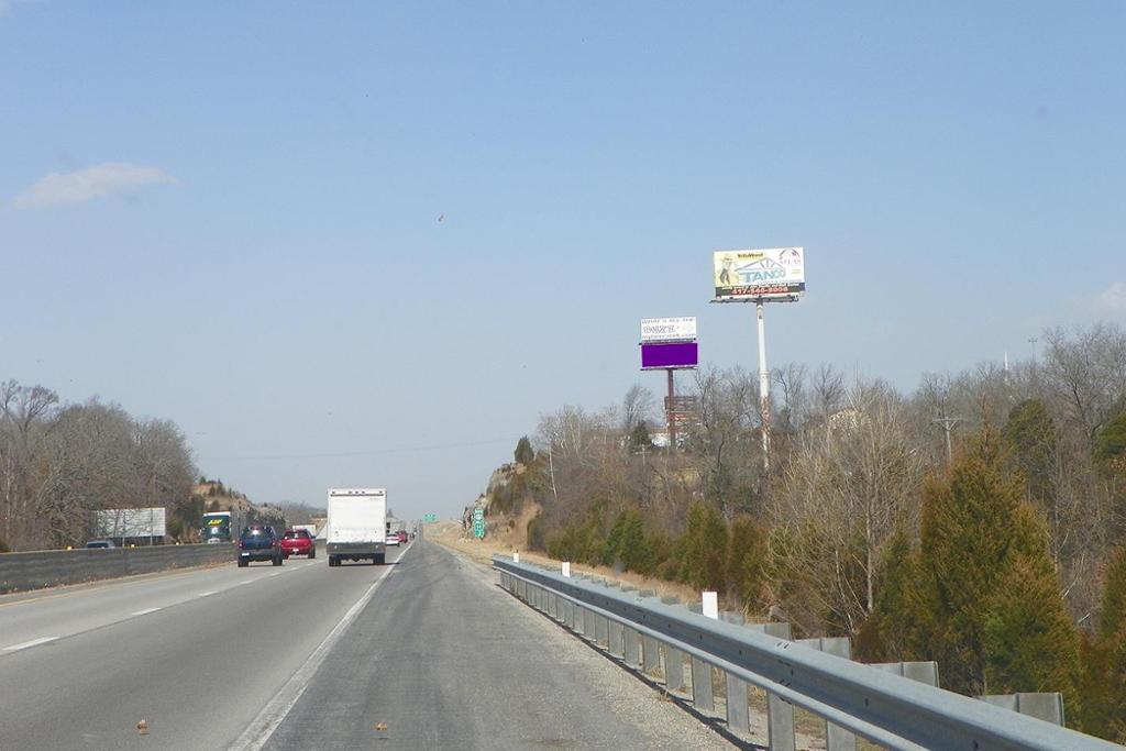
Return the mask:
<path id="1" fill-rule="evenodd" d="M 0 597 L 0 751 L 727 748 L 493 581 L 415 540 Z"/>

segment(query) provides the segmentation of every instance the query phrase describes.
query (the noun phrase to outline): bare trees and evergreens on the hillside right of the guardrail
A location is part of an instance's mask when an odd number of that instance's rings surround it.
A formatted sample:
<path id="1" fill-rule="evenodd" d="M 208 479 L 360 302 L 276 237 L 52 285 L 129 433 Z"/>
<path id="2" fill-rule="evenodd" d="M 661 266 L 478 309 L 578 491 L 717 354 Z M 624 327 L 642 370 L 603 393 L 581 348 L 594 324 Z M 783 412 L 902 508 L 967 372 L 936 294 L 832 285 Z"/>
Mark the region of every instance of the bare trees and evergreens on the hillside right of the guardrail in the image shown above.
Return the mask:
<path id="1" fill-rule="evenodd" d="M 531 508 L 533 549 L 716 590 L 863 660 L 938 660 L 951 690 L 1062 691 L 1069 724 L 1124 741 L 1126 333 L 1042 339 L 1037 361 L 911 393 L 778 368 L 769 470 L 739 368 L 681 379 L 699 414 L 677 450 L 640 385 L 566 405 L 490 486 L 491 521 Z"/>

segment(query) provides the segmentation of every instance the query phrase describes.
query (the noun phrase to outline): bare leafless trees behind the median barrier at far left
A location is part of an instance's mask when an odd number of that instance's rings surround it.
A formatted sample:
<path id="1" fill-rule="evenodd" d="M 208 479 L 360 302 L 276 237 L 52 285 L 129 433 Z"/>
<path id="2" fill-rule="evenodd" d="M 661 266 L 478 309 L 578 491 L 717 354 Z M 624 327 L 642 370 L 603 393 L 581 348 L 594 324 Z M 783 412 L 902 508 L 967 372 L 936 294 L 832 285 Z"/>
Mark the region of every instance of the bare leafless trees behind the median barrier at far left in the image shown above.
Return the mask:
<path id="1" fill-rule="evenodd" d="M 0 551 L 81 545 L 100 509 L 164 507 L 169 536 L 189 536 L 203 510 L 196 475 L 169 420 L 0 383 Z"/>

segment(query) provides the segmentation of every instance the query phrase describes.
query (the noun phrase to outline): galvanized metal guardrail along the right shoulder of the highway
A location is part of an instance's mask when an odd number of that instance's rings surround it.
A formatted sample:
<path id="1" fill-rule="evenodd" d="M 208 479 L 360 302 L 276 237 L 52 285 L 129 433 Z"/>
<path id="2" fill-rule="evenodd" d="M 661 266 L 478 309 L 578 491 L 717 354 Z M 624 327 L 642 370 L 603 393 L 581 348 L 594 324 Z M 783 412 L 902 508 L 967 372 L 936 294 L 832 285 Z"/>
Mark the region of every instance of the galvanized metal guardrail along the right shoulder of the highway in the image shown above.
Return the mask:
<path id="1" fill-rule="evenodd" d="M 694 662 L 717 668 L 729 680 L 758 686 L 887 749 L 1124 748 L 795 642 L 714 620 L 655 597 L 563 576 L 501 556 L 493 557 L 493 567 L 500 572 L 502 588 L 568 627 L 605 643 L 611 652 L 616 643 L 632 664 L 642 669 L 659 664 L 655 649 L 660 643 L 667 651 L 683 652 Z M 617 634 L 618 627 L 622 634 Z M 636 644 L 636 636 L 641 644 Z M 645 653 L 640 661 L 637 646 Z"/>

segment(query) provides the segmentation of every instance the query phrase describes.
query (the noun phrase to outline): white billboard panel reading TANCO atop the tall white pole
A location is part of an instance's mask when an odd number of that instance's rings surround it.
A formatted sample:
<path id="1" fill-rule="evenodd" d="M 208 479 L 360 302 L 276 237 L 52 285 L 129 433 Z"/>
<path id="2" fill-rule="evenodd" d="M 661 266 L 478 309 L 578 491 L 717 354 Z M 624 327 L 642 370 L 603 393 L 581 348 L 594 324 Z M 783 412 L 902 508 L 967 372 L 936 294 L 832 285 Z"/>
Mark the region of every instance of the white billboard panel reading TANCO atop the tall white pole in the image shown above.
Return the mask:
<path id="1" fill-rule="evenodd" d="M 717 250 L 716 299 L 789 299 L 805 294 L 805 249 Z"/>

